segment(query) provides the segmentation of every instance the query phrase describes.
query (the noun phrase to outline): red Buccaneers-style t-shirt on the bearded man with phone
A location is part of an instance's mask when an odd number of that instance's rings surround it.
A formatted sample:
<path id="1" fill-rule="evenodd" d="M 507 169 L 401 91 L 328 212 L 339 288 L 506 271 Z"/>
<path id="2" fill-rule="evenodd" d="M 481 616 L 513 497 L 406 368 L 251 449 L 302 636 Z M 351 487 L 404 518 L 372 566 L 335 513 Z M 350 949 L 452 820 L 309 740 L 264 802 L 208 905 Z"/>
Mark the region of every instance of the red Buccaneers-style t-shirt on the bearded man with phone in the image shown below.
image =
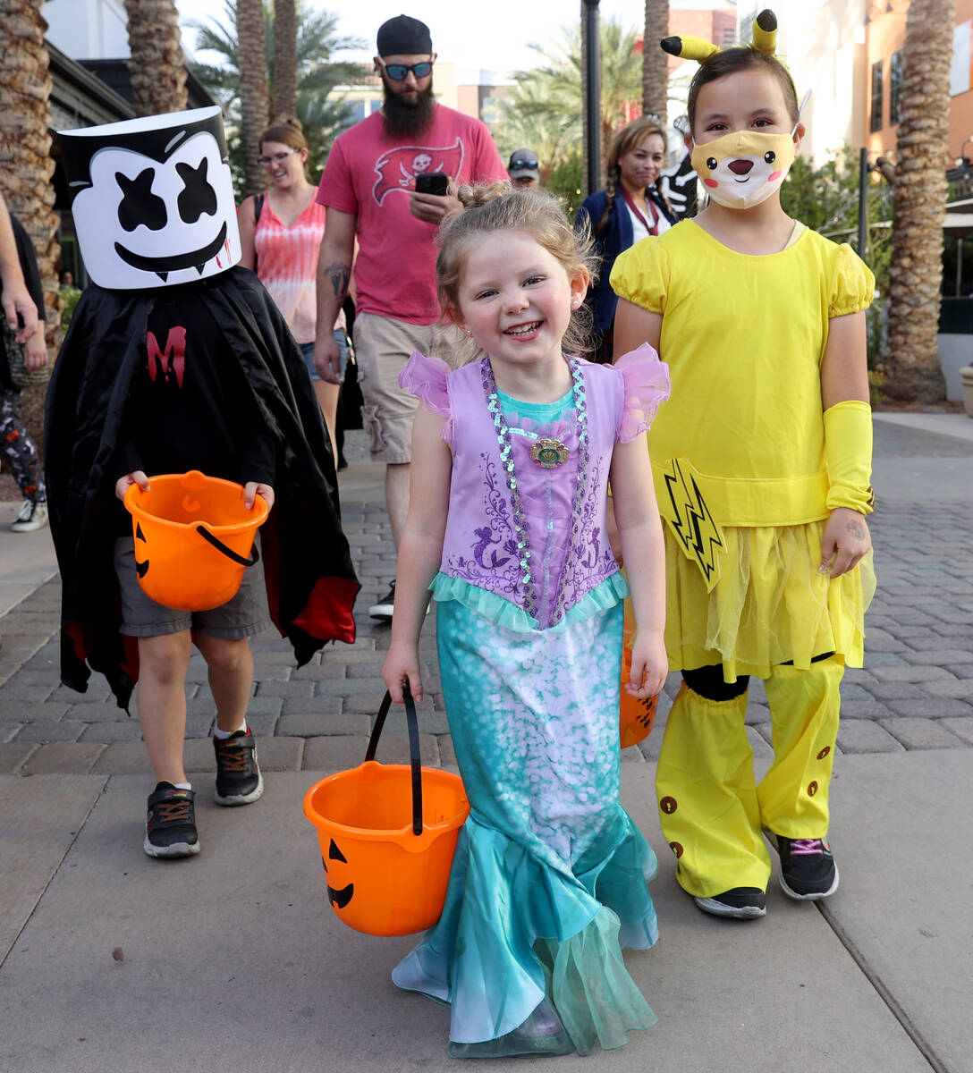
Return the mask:
<path id="1" fill-rule="evenodd" d="M 377 112 L 331 146 L 316 200 L 358 218 L 358 312 L 411 324 L 439 319 L 437 229 L 409 211 L 409 191 L 423 172 L 445 172 L 457 183 L 507 177 L 486 127 L 442 104 L 436 106 L 428 130 L 414 141 L 386 137 Z"/>

